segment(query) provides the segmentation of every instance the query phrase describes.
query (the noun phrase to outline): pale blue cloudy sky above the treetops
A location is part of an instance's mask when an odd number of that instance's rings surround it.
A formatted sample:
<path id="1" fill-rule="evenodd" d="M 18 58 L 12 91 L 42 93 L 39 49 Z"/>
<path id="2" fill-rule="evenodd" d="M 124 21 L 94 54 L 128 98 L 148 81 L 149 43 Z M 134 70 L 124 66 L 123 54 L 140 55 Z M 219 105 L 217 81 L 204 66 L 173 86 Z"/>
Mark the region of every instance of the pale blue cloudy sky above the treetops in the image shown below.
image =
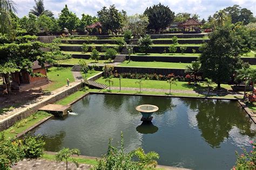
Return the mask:
<path id="1" fill-rule="evenodd" d="M 35 5 L 34 0 L 13 0 L 16 3 L 18 17 L 28 15 Z M 143 13 L 148 6 L 158 3 L 168 5 L 176 14 L 179 12 L 197 13 L 199 19 L 207 19 L 216 11 L 227 6 L 238 4 L 241 8 L 247 8 L 256 15 L 256 0 L 44 0 L 45 9 L 51 10 L 58 17 L 65 4 L 70 11 L 75 12 L 81 18 L 82 13 L 96 16 L 97 11 L 103 6 L 116 5 L 118 10 L 125 10 L 128 15 Z"/>

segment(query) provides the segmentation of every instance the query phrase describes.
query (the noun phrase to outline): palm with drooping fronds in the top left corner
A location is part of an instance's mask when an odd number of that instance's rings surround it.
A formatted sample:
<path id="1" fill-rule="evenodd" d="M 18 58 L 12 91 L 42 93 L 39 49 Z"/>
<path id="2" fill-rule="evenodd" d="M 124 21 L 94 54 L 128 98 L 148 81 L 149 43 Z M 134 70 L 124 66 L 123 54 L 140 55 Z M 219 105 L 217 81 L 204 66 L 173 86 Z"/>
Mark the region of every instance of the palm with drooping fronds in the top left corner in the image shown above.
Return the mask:
<path id="1" fill-rule="evenodd" d="M 10 39 L 14 39 L 11 12 L 17 12 L 15 3 L 11 0 L 0 0 L 0 33 L 7 34 Z"/>

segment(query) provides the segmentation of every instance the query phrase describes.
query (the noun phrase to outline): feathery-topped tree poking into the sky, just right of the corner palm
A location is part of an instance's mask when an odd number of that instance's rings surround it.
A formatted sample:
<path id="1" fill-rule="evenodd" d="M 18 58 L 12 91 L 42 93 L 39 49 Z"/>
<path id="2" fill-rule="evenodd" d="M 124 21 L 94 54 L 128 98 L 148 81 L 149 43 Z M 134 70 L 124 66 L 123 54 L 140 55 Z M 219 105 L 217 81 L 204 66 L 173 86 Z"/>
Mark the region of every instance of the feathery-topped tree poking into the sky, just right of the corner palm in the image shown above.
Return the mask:
<path id="1" fill-rule="evenodd" d="M 30 12 L 35 16 L 46 15 L 48 17 L 53 17 L 53 13 L 50 10 L 44 10 L 44 0 L 35 0 L 36 5 Z"/>

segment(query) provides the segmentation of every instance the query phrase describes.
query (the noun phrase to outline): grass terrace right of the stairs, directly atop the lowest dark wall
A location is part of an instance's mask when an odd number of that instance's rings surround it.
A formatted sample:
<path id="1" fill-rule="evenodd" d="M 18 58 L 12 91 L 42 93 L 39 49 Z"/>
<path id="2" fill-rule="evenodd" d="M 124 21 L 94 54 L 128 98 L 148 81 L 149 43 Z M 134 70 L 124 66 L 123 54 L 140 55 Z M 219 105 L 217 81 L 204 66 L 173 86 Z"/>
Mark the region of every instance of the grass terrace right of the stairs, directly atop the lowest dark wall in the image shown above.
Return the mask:
<path id="1" fill-rule="evenodd" d="M 190 63 L 179 63 L 179 62 L 143 62 L 143 61 L 125 61 L 120 63 L 118 66 L 126 67 L 159 67 L 159 68 L 186 68 Z"/>

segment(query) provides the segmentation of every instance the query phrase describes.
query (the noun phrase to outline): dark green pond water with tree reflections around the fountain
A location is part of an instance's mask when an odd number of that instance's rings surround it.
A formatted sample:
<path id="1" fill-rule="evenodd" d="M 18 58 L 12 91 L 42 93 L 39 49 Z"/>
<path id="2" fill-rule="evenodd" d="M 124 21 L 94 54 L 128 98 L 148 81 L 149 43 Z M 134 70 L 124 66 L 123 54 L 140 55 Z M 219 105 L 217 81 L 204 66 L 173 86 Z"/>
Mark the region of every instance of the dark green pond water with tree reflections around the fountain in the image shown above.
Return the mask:
<path id="1" fill-rule="evenodd" d="M 138 105 L 159 107 L 152 124 L 143 124 Z M 252 150 L 256 126 L 237 101 L 195 98 L 91 94 L 72 105 L 64 118 L 51 118 L 32 132 L 46 141 L 46 150 L 79 148 L 100 157 L 109 138 L 125 150 L 156 151 L 159 165 L 193 169 L 231 169 L 235 151 Z"/>

